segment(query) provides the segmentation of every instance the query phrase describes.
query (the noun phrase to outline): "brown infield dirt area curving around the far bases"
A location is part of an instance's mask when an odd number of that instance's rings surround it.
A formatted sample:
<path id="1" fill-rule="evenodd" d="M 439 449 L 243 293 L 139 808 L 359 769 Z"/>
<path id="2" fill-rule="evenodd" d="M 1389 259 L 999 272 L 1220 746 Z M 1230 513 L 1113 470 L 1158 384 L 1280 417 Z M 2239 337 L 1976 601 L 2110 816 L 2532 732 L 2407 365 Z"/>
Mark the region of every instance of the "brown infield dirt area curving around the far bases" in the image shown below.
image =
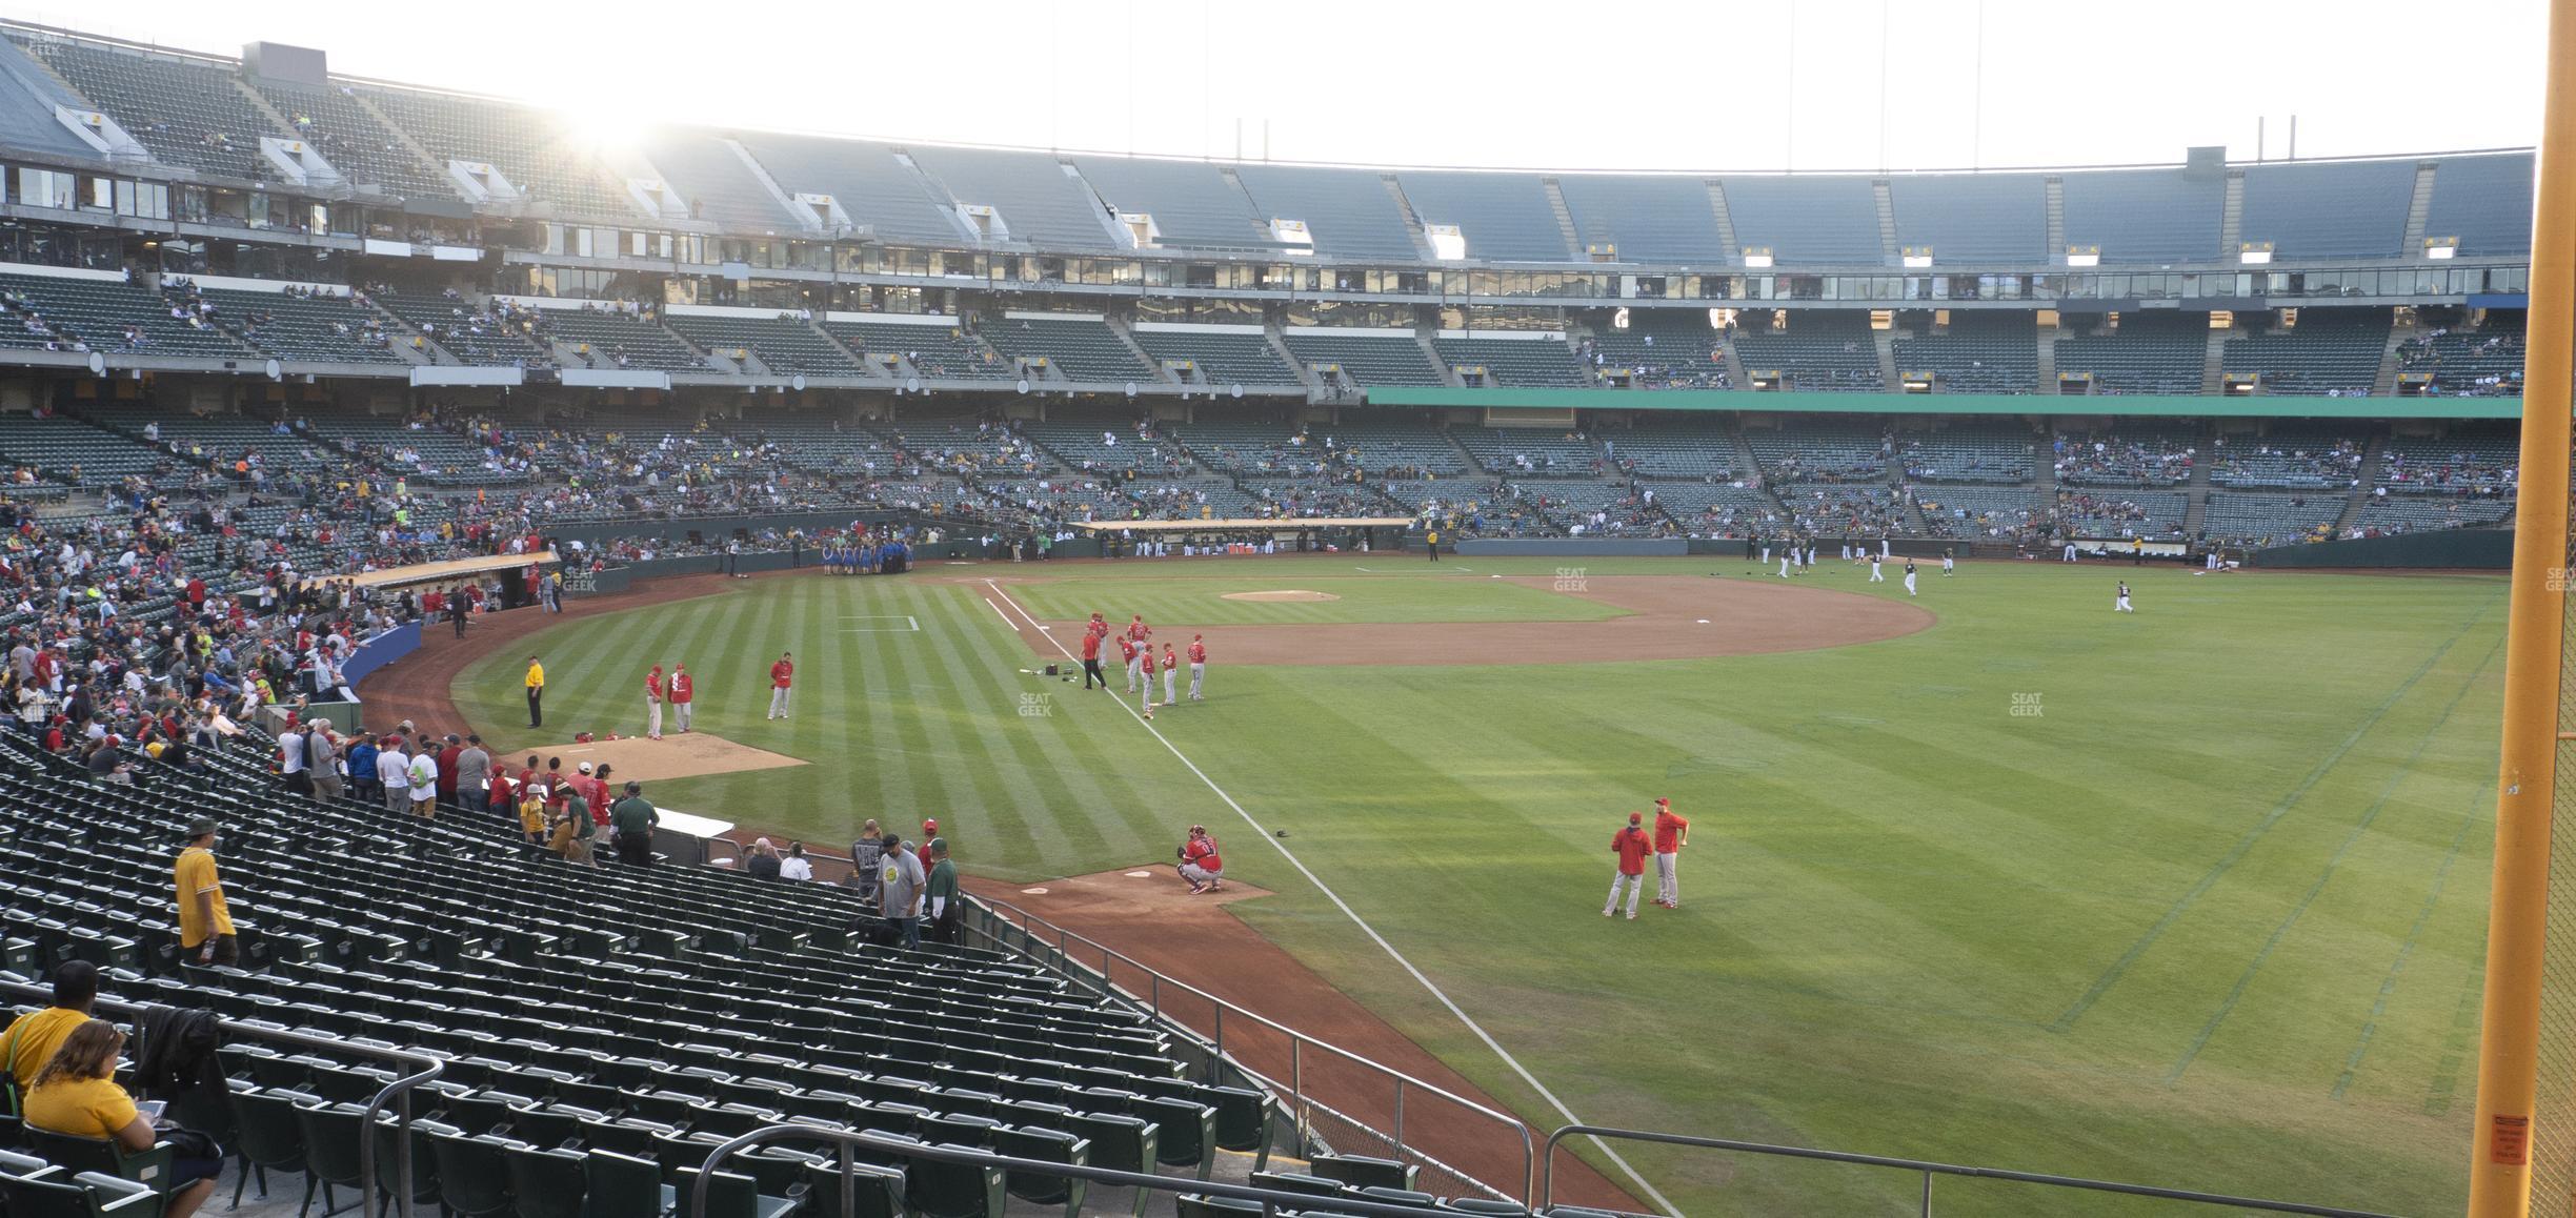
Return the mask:
<path id="1" fill-rule="evenodd" d="M 1602 664 L 1618 659 L 1705 659 L 1873 644 L 1932 626 L 1932 613 L 1901 600 L 1826 592 L 1788 579 L 1698 574 L 1595 574 L 1579 587 L 1551 577 L 1502 577 L 1522 587 L 1628 610 L 1607 621 L 1425 621 L 1332 626 L 1154 623 L 1159 639 L 1208 636 L 1211 664 Z M 1005 590 L 1012 582 L 994 577 Z M 1110 621 L 1121 621 L 1110 615 Z M 1079 621 L 1020 621 L 1020 639 L 1043 659 L 1079 646 Z"/>

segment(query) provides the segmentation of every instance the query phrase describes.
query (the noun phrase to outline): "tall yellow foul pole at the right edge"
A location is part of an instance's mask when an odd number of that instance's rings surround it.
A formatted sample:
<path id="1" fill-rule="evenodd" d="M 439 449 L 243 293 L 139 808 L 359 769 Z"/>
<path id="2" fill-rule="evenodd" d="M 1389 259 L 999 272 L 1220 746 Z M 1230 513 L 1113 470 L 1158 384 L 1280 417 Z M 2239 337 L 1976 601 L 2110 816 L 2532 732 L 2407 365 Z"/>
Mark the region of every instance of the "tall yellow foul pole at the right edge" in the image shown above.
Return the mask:
<path id="1" fill-rule="evenodd" d="M 2486 930 L 2486 1022 L 2478 1040 L 2478 1128 L 2470 1218 L 2532 1213 L 2540 1084 L 2540 963 L 2550 888 L 2550 803 L 2558 785 L 2558 682 L 2568 564 L 2568 409 L 2576 358 L 2576 0 L 2550 0 L 2540 198 L 2532 227 L 2532 317 L 2522 376 L 2522 494 L 2504 667 L 2504 762 L 2496 783 L 2496 881 Z M 2568 1213 L 2545 1197 L 2543 1213 Z"/>

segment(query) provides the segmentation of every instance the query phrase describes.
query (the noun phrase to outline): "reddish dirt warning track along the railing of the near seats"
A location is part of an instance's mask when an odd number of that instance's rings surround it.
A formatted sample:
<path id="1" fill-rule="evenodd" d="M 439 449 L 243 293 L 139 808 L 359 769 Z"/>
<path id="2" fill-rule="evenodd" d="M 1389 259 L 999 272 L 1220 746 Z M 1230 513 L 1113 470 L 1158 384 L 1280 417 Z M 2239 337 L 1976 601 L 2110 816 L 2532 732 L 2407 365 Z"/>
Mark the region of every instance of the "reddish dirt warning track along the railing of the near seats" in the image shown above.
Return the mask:
<path id="1" fill-rule="evenodd" d="M 1043 894 L 1033 894 L 1033 888 L 1043 888 Z M 1448 1069 L 1394 1025 L 1360 1007 L 1350 994 L 1329 986 L 1226 909 L 1234 901 L 1265 896 L 1257 888 L 1229 886 L 1216 896 L 1190 896 L 1190 888 L 1172 868 L 1133 868 L 1043 883 L 969 878 L 966 891 L 1007 901 L 1074 935 L 1105 942 L 1144 968 L 1182 979 L 1265 1020 L 1296 1027 L 1329 1045 L 1342 1045 L 1484 1107 L 1510 1112 L 1507 1105 Z M 1074 948 L 1072 955 L 1090 968 L 1108 966 L 1110 976 L 1136 994 L 1154 991 L 1139 968 L 1103 960 L 1097 950 L 1082 953 Z M 1200 999 L 1164 991 L 1162 1009 L 1200 1035 L 1216 1035 L 1213 1007 Z M 1260 1025 L 1247 1025 L 1247 1020 L 1226 1022 L 1224 1033 L 1226 1053 L 1270 1079 L 1280 1079 L 1285 1087 L 1291 1076 L 1288 1038 Z M 1334 1061 L 1329 1053 L 1314 1048 L 1298 1053 L 1296 1066 L 1303 1071 L 1306 1094 L 1321 1097 L 1368 1128 L 1396 1128 L 1394 1087 L 1381 1074 Z M 1288 1102 L 1288 1097 L 1283 1094 L 1280 1102 Z M 1546 1130 L 1556 1125 L 1556 1120 L 1530 1112 L 1522 1112 L 1522 1120 L 1530 1123 L 1535 1141 L 1546 1141 Z M 1422 1092 L 1409 1094 L 1404 1102 L 1404 1143 L 1504 1190 L 1510 1190 L 1507 1182 L 1517 1179 L 1522 1169 L 1520 1143 L 1504 1125 Z M 1337 1148 L 1345 1154 L 1383 1154 L 1383 1148 L 1373 1146 Z M 1435 1192 L 1445 1190 L 1435 1182 L 1425 1185 Z M 1558 1156 L 1556 1195 L 1566 1205 L 1654 1213 L 1571 1154 Z"/>

